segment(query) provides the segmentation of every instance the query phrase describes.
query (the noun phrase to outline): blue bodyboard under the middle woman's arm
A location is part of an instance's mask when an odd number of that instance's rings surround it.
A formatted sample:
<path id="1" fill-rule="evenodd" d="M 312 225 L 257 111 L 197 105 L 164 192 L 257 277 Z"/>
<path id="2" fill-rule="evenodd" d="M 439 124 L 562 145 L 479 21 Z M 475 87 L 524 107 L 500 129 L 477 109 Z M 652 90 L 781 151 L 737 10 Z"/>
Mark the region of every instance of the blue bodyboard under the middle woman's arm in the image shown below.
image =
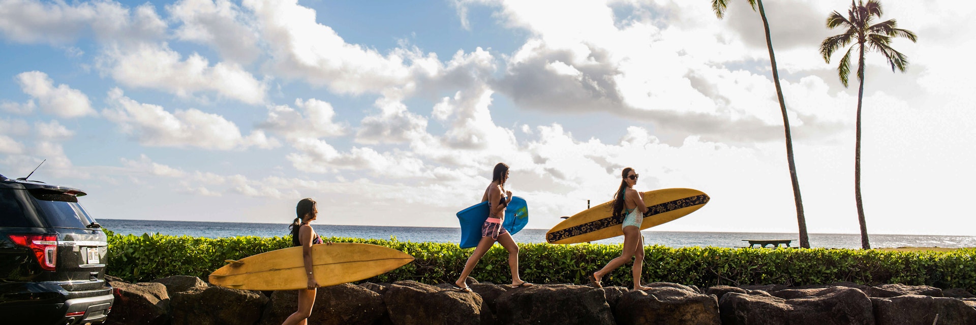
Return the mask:
<path id="1" fill-rule="evenodd" d="M 488 219 L 488 201 L 481 202 L 461 210 L 458 221 L 461 222 L 461 248 L 478 246 L 481 241 L 481 225 Z M 511 198 L 505 210 L 505 222 L 502 226 L 508 233 L 515 234 L 529 223 L 529 206 L 525 199 L 515 196 Z"/>

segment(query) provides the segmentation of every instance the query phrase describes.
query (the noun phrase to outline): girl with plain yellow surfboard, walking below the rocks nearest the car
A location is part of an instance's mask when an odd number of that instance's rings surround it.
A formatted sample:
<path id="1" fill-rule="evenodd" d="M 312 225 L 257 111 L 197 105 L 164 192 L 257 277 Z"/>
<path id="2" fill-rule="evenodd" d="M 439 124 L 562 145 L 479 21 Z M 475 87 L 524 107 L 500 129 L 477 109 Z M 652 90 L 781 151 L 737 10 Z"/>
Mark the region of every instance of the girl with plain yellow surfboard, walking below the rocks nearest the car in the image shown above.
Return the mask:
<path id="1" fill-rule="evenodd" d="M 315 229 L 312 229 L 311 225 L 308 224 L 318 219 L 315 200 L 310 198 L 302 199 L 299 201 L 298 206 L 295 207 L 295 213 L 298 215 L 298 218 L 295 218 L 295 221 L 288 227 L 292 230 L 292 245 L 302 246 L 302 259 L 305 261 L 305 273 L 308 278 L 308 286 L 305 290 L 298 290 L 299 310 L 288 316 L 281 325 L 307 324 L 307 318 L 311 315 L 311 306 L 315 305 L 315 288 L 318 287 L 318 282 L 315 281 L 315 277 L 312 274 L 311 245 L 321 244 L 322 237 L 319 237 L 318 233 L 315 233 Z"/>

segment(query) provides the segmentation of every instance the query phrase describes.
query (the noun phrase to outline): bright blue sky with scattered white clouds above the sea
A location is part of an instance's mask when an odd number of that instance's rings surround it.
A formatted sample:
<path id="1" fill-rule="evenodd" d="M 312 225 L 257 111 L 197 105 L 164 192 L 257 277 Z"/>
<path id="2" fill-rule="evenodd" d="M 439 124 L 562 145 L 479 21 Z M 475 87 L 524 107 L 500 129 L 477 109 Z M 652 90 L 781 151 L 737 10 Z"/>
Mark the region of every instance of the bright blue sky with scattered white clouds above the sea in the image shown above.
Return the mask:
<path id="1" fill-rule="evenodd" d="M 869 233 L 976 235 L 976 3 L 881 4 L 918 40 L 866 57 Z M 810 233 L 860 231 L 849 5 L 765 3 Z M 0 0 L 0 174 L 96 219 L 457 226 L 505 162 L 549 228 L 632 167 L 712 197 L 655 230 L 795 232 L 772 80 L 747 1 Z"/>

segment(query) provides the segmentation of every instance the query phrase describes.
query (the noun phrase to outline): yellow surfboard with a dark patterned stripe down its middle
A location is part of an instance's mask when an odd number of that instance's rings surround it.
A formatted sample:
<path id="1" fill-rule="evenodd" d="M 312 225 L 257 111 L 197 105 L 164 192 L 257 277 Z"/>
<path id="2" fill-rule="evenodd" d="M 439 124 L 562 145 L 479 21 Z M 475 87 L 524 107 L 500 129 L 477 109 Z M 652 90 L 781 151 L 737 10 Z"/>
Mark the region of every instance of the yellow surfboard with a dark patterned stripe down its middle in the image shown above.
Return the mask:
<path id="1" fill-rule="evenodd" d="M 665 188 L 640 193 L 650 215 L 640 229 L 687 216 L 709 203 L 708 194 L 691 188 Z M 613 200 L 573 215 L 546 233 L 549 244 L 575 244 L 624 234 L 624 216 L 613 216 Z"/>

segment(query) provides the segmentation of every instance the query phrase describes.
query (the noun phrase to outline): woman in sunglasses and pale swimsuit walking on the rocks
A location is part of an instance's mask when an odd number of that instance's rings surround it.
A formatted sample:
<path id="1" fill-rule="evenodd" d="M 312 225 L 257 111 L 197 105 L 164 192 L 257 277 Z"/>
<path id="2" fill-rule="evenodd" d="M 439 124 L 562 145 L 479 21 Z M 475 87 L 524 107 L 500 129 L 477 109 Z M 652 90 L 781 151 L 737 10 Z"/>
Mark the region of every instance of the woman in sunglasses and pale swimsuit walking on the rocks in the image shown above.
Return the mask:
<path id="1" fill-rule="evenodd" d="M 610 260 L 606 266 L 593 272 L 590 275 L 590 281 L 597 288 L 602 288 L 600 280 L 603 275 L 630 262 L 630 258 L 634 258 L 633 290 L 646 290 L 650 288 L 640 285 L 640 272 L 644 264 L 644 236 L 640 234 L 640 223 L 644 221 L 644 213 L 647 212 L 647 207 L 644 206 L 644 198 L 641 197 L 640 192 L 633 189 L 633 185 L 637 184 L 637 172 L 628 167 L 624 169 L 621 176 L 623 176 L 623 180 L 620 183 L 620 188 L 614 194 L 613 215 L 624 216 L 624 223 L 621 224 L 621 227 L 624 228 L 624 252 L 619 258 Z"/>

